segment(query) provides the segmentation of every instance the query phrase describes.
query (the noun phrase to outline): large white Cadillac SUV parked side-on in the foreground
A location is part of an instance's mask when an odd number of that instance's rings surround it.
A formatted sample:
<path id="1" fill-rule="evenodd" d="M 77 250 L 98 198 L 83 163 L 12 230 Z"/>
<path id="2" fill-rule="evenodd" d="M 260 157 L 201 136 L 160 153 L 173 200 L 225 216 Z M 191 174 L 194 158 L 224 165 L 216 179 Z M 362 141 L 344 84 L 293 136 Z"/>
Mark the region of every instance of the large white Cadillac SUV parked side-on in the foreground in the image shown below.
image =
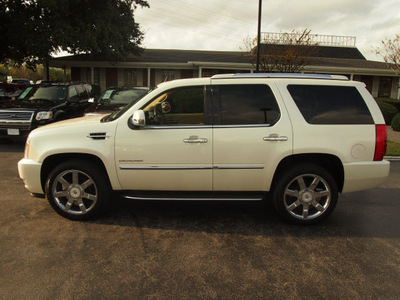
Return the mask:
<path id="1" fill-rule="evenodd" d="M 262 200 L 316 223 L 338 193 L 389 174 L 382 114 L 343 76 L 235 74 L 160 84 L 107 116 L 34 130 L 19 174 L 60 215 L 101 213 L 112 192 L 140 200 Z"/>

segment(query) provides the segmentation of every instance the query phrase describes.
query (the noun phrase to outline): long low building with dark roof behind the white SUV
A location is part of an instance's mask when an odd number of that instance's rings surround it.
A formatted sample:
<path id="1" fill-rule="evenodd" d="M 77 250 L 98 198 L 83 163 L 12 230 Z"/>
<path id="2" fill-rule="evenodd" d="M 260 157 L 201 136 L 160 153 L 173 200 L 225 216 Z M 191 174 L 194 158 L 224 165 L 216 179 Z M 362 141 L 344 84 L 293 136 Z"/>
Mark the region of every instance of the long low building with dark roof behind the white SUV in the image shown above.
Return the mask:
<path id="1" fill-rule="evenodd" d="M 285 45 L 280 45 L 285 47 Z M 262 45 L 268 51 L 268 44 Z M 318 46 L 304 73 L 340 74 L 362 81 L 374 97 L 399 98 L 399 76 L 383 62 L 369 61 L 355 46 Z M 179 78 L 254 72 L 249 52 L 145 49 L 140 56 L 110 63 L 91 55 L 55 58 L 51 67 L 71 70 L 74 81 L 110 86 L 154 87 Z"/>

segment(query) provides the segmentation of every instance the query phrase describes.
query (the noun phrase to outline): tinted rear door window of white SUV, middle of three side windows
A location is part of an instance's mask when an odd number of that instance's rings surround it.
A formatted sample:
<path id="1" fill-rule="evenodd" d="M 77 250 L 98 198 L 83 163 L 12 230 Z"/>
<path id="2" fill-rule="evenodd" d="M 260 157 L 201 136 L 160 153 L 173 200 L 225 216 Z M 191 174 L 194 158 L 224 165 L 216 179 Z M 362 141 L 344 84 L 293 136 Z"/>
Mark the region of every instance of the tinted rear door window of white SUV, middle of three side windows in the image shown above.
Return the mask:
<path id="1" fill-rule="evenodd" d="M 220 105 L 217 124 L 272 125 L 279 119 L 279 107 L 268 85 L 220 85 L 214 89 L 218 90 Z"/>

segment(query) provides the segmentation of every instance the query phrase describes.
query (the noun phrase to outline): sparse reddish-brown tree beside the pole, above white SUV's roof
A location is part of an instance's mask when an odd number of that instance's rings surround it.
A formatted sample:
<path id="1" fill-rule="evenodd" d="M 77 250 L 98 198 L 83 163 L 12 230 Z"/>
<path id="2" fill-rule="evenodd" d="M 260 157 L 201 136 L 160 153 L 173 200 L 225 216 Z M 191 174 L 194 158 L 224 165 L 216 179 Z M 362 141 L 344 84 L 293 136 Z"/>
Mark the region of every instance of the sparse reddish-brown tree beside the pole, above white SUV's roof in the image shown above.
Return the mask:
<path id="1" fill-rule="evenodd" d="M 318 52 L 313 43 L 311 30 L 302 32 L 266 34 L 260 45 L 260 69 L 263 72 L 298 73 L 309 63 L 309 58 Z M 257 40 L 247 37 L 245 47 L 250 53 L 250 61 L 257 63 Z"/>

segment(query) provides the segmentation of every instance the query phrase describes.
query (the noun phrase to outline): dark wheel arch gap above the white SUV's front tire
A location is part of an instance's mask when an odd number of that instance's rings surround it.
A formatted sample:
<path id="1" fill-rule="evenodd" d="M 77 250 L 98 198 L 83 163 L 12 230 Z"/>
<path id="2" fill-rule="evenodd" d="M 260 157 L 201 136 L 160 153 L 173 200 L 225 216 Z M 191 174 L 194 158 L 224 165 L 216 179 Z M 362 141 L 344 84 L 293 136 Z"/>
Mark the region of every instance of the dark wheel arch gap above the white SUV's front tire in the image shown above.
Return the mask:
<path id="1" fill-rule="evenodd" d="M 49 157 L 46 157 L 46 159 L 42 163 L 42 168 L 40 172 L 40 181 L 42 185 L 43 191 L 45 190 L 45 184 L 47 177 L 49 176 L 50 172 L 56 167 L 58 164 L 68 161 L 68 160 L 84 160 L 84 161 L 91 161 L 98 165 L 103 172 L 107 175 L 107 169 L 104 165 L 104 162 L 97 156 L 92 155 L 92 154 L 85 154 L 85 153 L 60 153 L 60 154 L 54 154 Z M 107 180 L 110 183 L 110 179 L 107 175 Z M 111 184 L 110 184 L 111 186 Z"/>

